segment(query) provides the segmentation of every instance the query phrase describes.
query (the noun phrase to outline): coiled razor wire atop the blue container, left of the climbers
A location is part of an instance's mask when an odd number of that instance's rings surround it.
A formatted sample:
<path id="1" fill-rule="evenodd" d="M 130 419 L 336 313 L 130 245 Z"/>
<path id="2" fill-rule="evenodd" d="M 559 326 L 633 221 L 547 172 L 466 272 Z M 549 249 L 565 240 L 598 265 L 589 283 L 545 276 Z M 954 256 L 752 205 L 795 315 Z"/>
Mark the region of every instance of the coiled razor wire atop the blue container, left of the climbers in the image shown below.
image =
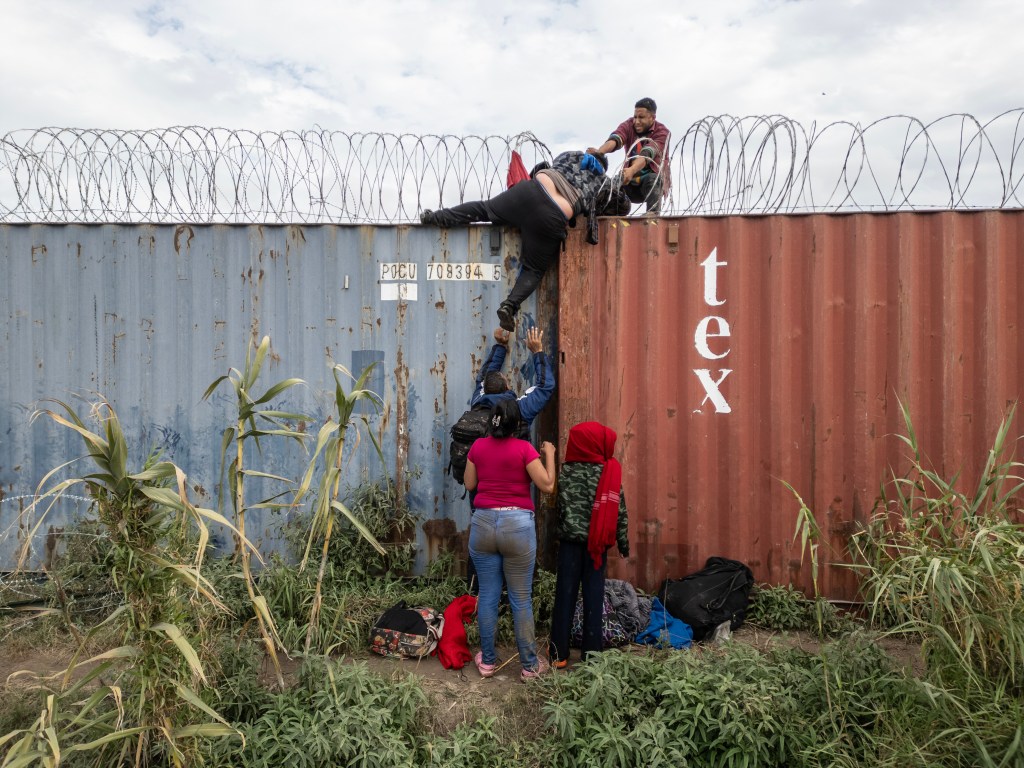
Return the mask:
<path id="1" fill-rule="evenodd" d="M 532 134 L 451 136 L 224 128 L 14 131 L 0 139 L 0 221 L 403 222 L 504 188 Z"/>

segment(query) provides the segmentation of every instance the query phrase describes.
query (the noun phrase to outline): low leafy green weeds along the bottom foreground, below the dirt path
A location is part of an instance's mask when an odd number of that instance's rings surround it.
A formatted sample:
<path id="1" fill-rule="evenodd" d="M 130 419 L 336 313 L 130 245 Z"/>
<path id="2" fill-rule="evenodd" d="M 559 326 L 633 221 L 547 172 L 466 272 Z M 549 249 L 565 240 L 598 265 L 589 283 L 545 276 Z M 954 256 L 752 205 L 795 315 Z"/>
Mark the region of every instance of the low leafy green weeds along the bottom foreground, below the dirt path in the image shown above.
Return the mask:
<path id="1" fill-rule="evenodd" d="M 994 708 L 915 679 L 865 631 L 817 653 L 735 641 L 609 650 L 516 688 L 497 712 L 466 710 L 454 726 L 435 717 L 437 703 L 415 675 L 309 659 L 296 686 L 264 691 L 232 723 L 246 745 L 217 742 L 208 764 L 924 768 L 1024 758 L 1019 699 Z"/>

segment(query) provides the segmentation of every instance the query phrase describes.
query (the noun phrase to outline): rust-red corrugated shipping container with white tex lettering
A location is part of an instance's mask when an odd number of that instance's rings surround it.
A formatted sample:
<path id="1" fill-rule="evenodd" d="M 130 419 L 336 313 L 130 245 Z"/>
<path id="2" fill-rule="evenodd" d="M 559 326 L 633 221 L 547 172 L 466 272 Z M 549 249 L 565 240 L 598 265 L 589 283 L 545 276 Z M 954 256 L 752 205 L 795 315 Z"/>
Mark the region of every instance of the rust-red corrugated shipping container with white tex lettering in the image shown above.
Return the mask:
<path id="1" fill-rule="evenodd" d="M 842 553 L 887 468 L 906 467 L 897 397 L 935 468 L 970 487 L 1024 394 L 1024 211 L 630 219 L 601 236 L 573 236 L 560 266 L 559 455 L 579 421 L 618 431 L 633 551 L 609 572 L 647 589 L 711 555 L 810 586 L 783 480 Z M 855 598 L 849 570 L 821 579 Z"/>

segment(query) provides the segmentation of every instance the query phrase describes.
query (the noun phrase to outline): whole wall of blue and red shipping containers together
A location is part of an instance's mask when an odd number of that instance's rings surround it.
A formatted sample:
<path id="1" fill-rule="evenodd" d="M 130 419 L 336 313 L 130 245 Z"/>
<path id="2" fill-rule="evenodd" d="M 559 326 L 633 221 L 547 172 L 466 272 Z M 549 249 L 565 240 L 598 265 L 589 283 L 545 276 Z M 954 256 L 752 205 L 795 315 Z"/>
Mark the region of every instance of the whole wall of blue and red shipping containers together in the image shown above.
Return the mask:
<path id="1" fill-rule="evenodd" d="M 578 421 L 618 431 L 633 553 L 610 572 L 654 589 L 721 554 L 760 580 L 808 586 L 781 481 L 841 552 L 886 468 L 905 466 L 897 396 L 936 467 L 973 481 L 1024 388 L 1022 249 L 1022 211 L 609 219 L 597 247 L 571 232 L 559 281 L 527 312 L 559 325 L 557 420 L 549 408 L 538 433 L 557 429 L 561 455 Z M 424 521 L 418 565 L 461 549 L 469 510 L 443 474 L 446 428 L 517 255 L 514 232 L 492 227 L 0 226 L 0 569 L 31 524 L 16 497 L 83 453 L 67 430 L 30 424 L 41 398 L 102 393 L 136 455 L 163 449 L 212 495 L 230 398 L 200 397 L 263 334 L 263 381 L 305 379 L 281 404 L 316 419 L 332 364 L 357 373 L 382 360 L 372 386 L 385 408 L 372 423 Z M 431 280 L 438 262 L 505 269 L 499 282 Z M 521 339 L 510 362 L 526 386 Z M 377 472 L 375 461 L 356 454 L 346 480 Z M 304 463 L 279 443 L 262 468 L 294 476 Z M 269 549 L 279 522 L 254 516 L 250 530 Z M 548 566 L 553 522 L 544 499 Z M 43 531 L 35 555 L 46 557 Z M 822 586 L 855 596 L 839 567 Z"/>

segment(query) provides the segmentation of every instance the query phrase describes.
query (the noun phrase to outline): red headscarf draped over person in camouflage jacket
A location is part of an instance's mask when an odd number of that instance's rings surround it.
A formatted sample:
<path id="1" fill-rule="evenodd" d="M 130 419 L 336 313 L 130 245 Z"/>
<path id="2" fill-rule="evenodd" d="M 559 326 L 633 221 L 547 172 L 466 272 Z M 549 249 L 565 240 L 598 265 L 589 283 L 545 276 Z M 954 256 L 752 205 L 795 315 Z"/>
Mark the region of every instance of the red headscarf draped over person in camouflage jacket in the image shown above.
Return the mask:
<path id="1" fill-rule="evenodd" d="M 615 430 L 596 421 L 585 421 L 569 429 L 565 445 L 566 462 L 602 464 L 597 496 L 590 513 L 587 551 L 600 568 L 605 551 L 615 543 L 618 525 L 618 493 L 623 487 L 623 467 L 615 459 Z"/>

